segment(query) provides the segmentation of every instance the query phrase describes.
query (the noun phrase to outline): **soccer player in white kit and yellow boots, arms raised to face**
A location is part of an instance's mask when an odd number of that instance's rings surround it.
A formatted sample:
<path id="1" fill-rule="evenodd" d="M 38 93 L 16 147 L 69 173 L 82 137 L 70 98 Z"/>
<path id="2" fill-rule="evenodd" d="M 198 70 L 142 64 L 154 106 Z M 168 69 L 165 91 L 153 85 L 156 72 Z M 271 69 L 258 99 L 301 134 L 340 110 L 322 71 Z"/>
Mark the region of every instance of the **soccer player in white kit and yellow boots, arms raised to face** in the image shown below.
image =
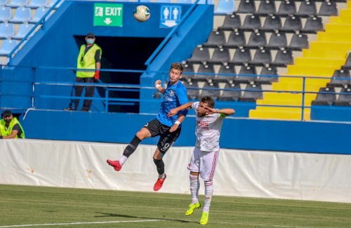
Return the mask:
<path id="1" fill-rule="evenodd" d="M 191 215 L 200 207 L 199 203 L 199 175 L 205 184 L 205 201 L 200 224 L 207 224 L 208 213 L 213 195 L 213 175 L 219 155 L 220 129 L 225 116 L 234 114 L 234 109 L 213 109 L 215 102 L 211 97 L 203 97 L 200 102 L 188 102 L 185 105 L 171 109 L 168 116 L 173 116 L 183 109 L 194 109 L 197 112 L 197 140 L 192 152 L 192 158 L 187 166 L 190 170 L 190 192 L 192 203 L 185 215 Z"/>

